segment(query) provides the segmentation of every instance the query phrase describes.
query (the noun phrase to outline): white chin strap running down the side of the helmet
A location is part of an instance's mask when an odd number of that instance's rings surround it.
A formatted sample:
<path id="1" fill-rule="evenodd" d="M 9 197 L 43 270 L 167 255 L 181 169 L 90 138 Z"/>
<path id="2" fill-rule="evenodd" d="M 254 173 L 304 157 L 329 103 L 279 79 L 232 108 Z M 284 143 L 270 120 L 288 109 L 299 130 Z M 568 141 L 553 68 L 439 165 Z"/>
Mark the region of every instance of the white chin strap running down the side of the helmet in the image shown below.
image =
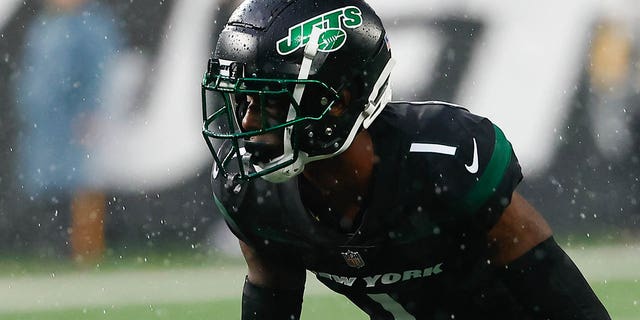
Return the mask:
<path id="1" fill-rule="evenodd" d="M 300 66 L 300 73 L 298 73 L 298 80 L 307 80 L 309 78 L 309 72 L 311 71 L 311 64 L 313 63 L 313 59 L 318 53 L 318 40 L 320 39 L 320 34 L 322 33 L 322 29 L 313 28 L 311 31 L 311 35 L 309 36 L 309 41 L 307 45 L 304 47 L 304 57 L 302 58 L 302 64 Z M 298 83 L 293 89 L 293 99 L 296 104 L 299 106 L 300 101 L 302 100 L 302 95 L 304 94 L 305 85 Z M 293 103 L 289 105 L 289 112 L 287 113 L 287 121 L 292 121 L 296 118 L 297 113 L 296 109 L 293 106 Z M 284 161 L 291 160 L 295 154 L 293 150 L 293 146 L 291 145 L 291 135 L 292 135 L 293 127 L 289 126 L 284 129 L 283 136 L 283 144 L 284 144 L 284 152 L 282 156 L 274 159 L 267 165 L 267 167 L 260 168 L 257 167 L 256 170 L 261 169 L 265 170 L 269 167 L 273 167 L 282 163 Z M 262 176 L 263 179 L 279 183 L 284 182 L 296 175 L 300 174 L 302 170 L 304 170 L 305 163 L 308 161 L 309 155 L 306 152 L 299 151 L 296 160 L 289 164 L 288 166 L 278 169 L 274 172 L 268 173 Z"/>

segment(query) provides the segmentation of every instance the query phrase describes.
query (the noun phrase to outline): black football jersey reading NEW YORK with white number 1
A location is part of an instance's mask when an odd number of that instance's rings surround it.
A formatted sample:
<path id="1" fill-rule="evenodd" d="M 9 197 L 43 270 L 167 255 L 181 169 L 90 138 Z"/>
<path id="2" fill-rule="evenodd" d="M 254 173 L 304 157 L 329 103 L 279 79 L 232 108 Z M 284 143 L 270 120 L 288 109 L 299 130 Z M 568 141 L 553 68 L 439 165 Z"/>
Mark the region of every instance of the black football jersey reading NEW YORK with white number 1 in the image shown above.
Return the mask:
<path id="1" fill-rule="evenodd" d="M 522 179 L 503 132 L 442 102 L 392 102 L 368 130 L 378 161 L 355 232 L 318 221 L 300 179 L 214 173 L 230 229 L 262 255 L 310 270 L 371 319 L 523 318 L 486 249 Z"/>

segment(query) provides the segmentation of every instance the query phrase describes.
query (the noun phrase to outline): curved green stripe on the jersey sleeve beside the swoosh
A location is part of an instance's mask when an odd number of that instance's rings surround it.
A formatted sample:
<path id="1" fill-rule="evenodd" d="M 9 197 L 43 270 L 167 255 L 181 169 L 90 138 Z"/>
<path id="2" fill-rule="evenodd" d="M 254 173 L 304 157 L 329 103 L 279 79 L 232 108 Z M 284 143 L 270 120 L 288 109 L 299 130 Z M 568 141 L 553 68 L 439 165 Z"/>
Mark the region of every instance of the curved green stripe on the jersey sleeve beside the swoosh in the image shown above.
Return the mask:
<path id="1" fill-rule="evenodd" d="M 495 143 L 487 168 L 480 179 L 462 199 L 462 208 L 466 212 L 476 212 L 496 191 L 504 173 L 511 162 L 511 143 L 497 126 L 493 126 Z"/>

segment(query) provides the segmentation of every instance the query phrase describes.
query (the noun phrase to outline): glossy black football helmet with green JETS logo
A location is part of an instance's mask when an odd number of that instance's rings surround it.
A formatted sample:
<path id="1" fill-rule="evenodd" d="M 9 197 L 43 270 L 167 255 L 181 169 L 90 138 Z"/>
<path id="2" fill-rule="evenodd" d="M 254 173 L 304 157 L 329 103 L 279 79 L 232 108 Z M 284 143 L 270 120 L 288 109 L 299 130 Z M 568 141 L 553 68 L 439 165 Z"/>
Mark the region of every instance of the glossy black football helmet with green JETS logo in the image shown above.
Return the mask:
<path id="1" fill-rule="evenodd" d="M 214 175 L 281 182 L 343 152 L 391 99 L 392 66 L 382 22 L 365 1 L 244 1 L 202 82 Z M 260 126 L 244 128 L 250 103 Z M 277 106 L 278 117 L 269 109 Z M 277 150 L 256 143 L 261 135 L 279 137 Z"/>

